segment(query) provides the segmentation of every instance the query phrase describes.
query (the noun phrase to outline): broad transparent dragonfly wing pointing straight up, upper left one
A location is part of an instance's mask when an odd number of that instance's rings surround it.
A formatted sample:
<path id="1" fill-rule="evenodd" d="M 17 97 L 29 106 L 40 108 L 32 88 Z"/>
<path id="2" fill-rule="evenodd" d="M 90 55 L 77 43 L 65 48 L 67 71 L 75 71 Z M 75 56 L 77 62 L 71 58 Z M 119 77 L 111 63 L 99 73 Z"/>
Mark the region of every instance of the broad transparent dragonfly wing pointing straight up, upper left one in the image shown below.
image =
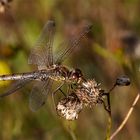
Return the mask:
<path id="1" fill-rule="evenodd" d="M 53 64 L 52 46 L 54 40 L 55 22 L 48 21 L 44 26 L 35 47 L 32 49 L 28 63 L 39 67 Z"/>

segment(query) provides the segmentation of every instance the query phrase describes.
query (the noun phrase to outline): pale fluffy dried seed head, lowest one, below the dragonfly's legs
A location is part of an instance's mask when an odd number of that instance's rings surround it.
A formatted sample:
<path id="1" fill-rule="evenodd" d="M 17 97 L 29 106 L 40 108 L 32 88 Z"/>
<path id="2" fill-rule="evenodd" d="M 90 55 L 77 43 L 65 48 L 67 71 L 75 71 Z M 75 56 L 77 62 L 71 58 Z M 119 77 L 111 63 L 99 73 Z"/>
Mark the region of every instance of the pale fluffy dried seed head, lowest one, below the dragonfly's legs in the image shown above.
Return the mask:
<path id="1" fill-rule="evenodd" d="M 56 110 L 58 115 L 66 120 L 76 120 L 82 110 L 82 103 L 74 93 L 71 93 L 58 103 Z"/>

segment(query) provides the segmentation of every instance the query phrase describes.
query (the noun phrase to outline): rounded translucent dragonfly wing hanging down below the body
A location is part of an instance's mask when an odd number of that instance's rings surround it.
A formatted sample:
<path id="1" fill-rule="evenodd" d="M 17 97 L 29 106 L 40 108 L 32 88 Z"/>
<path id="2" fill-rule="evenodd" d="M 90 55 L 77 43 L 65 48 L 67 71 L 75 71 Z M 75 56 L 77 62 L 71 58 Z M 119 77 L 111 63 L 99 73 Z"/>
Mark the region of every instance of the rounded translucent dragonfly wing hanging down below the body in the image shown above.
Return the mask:
<path id="1" fill-rule="evenodd" d="M 48 79 L 47 81 L 37 82 L 34 85 L 29 97 L 29 107 L 33 112 L 45 104 L 47 95 L 51 92 L 52 82 L 52 80 Z"/>

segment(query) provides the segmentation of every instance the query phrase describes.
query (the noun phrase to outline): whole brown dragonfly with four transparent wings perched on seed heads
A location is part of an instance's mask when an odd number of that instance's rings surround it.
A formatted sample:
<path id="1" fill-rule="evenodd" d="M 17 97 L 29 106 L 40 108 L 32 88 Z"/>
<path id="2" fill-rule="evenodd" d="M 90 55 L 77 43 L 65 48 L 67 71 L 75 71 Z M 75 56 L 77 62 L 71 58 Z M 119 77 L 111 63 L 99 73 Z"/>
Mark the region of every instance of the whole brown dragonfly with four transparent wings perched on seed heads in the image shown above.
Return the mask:
<path id="1" fill-rule="evenodd" d="M 91 27 L 91 25 L 87 25 L 78 37 L 74 37 L 60 44 L 61 53 L 56 57 L 53 54 L 55 22 L 49 20 L 45 24 L 28 58 L 28 63 L 36 65 L 37 70 L 26 73 L 0 75 L 0 80 L 2 81 L 17 80 L 9 90 L 0 95 L 0 98 L 14 93 L 31 81 L 36 81 L 29 95 L 29 108 L 32 111 L 37 111 L 45 104 L 48 93 L 52 92 L 54 81 L 59 81 L 61 84 L 52 94 L 61 90 L 61 87 L 66 83 L 70 85 L 80 84 L 84 80 L 81 70 L 71 70 L 63 66 L 62 62 L 79 46 L 81 40 L 91 30 Z"/>

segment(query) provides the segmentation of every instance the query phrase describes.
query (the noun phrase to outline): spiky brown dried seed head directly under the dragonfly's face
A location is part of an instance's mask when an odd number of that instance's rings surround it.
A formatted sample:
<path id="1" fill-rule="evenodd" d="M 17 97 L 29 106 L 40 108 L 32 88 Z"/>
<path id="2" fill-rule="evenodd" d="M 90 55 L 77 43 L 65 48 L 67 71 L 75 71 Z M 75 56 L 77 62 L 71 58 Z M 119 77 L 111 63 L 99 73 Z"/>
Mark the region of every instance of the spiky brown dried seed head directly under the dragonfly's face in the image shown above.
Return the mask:
<path id="1" fill-rule="evenodd" d="M 88 80 L 76 89 L 75 94 L 84 106 L 95 106 L 102 103 L 102 92 L 95 80 Z"/>

